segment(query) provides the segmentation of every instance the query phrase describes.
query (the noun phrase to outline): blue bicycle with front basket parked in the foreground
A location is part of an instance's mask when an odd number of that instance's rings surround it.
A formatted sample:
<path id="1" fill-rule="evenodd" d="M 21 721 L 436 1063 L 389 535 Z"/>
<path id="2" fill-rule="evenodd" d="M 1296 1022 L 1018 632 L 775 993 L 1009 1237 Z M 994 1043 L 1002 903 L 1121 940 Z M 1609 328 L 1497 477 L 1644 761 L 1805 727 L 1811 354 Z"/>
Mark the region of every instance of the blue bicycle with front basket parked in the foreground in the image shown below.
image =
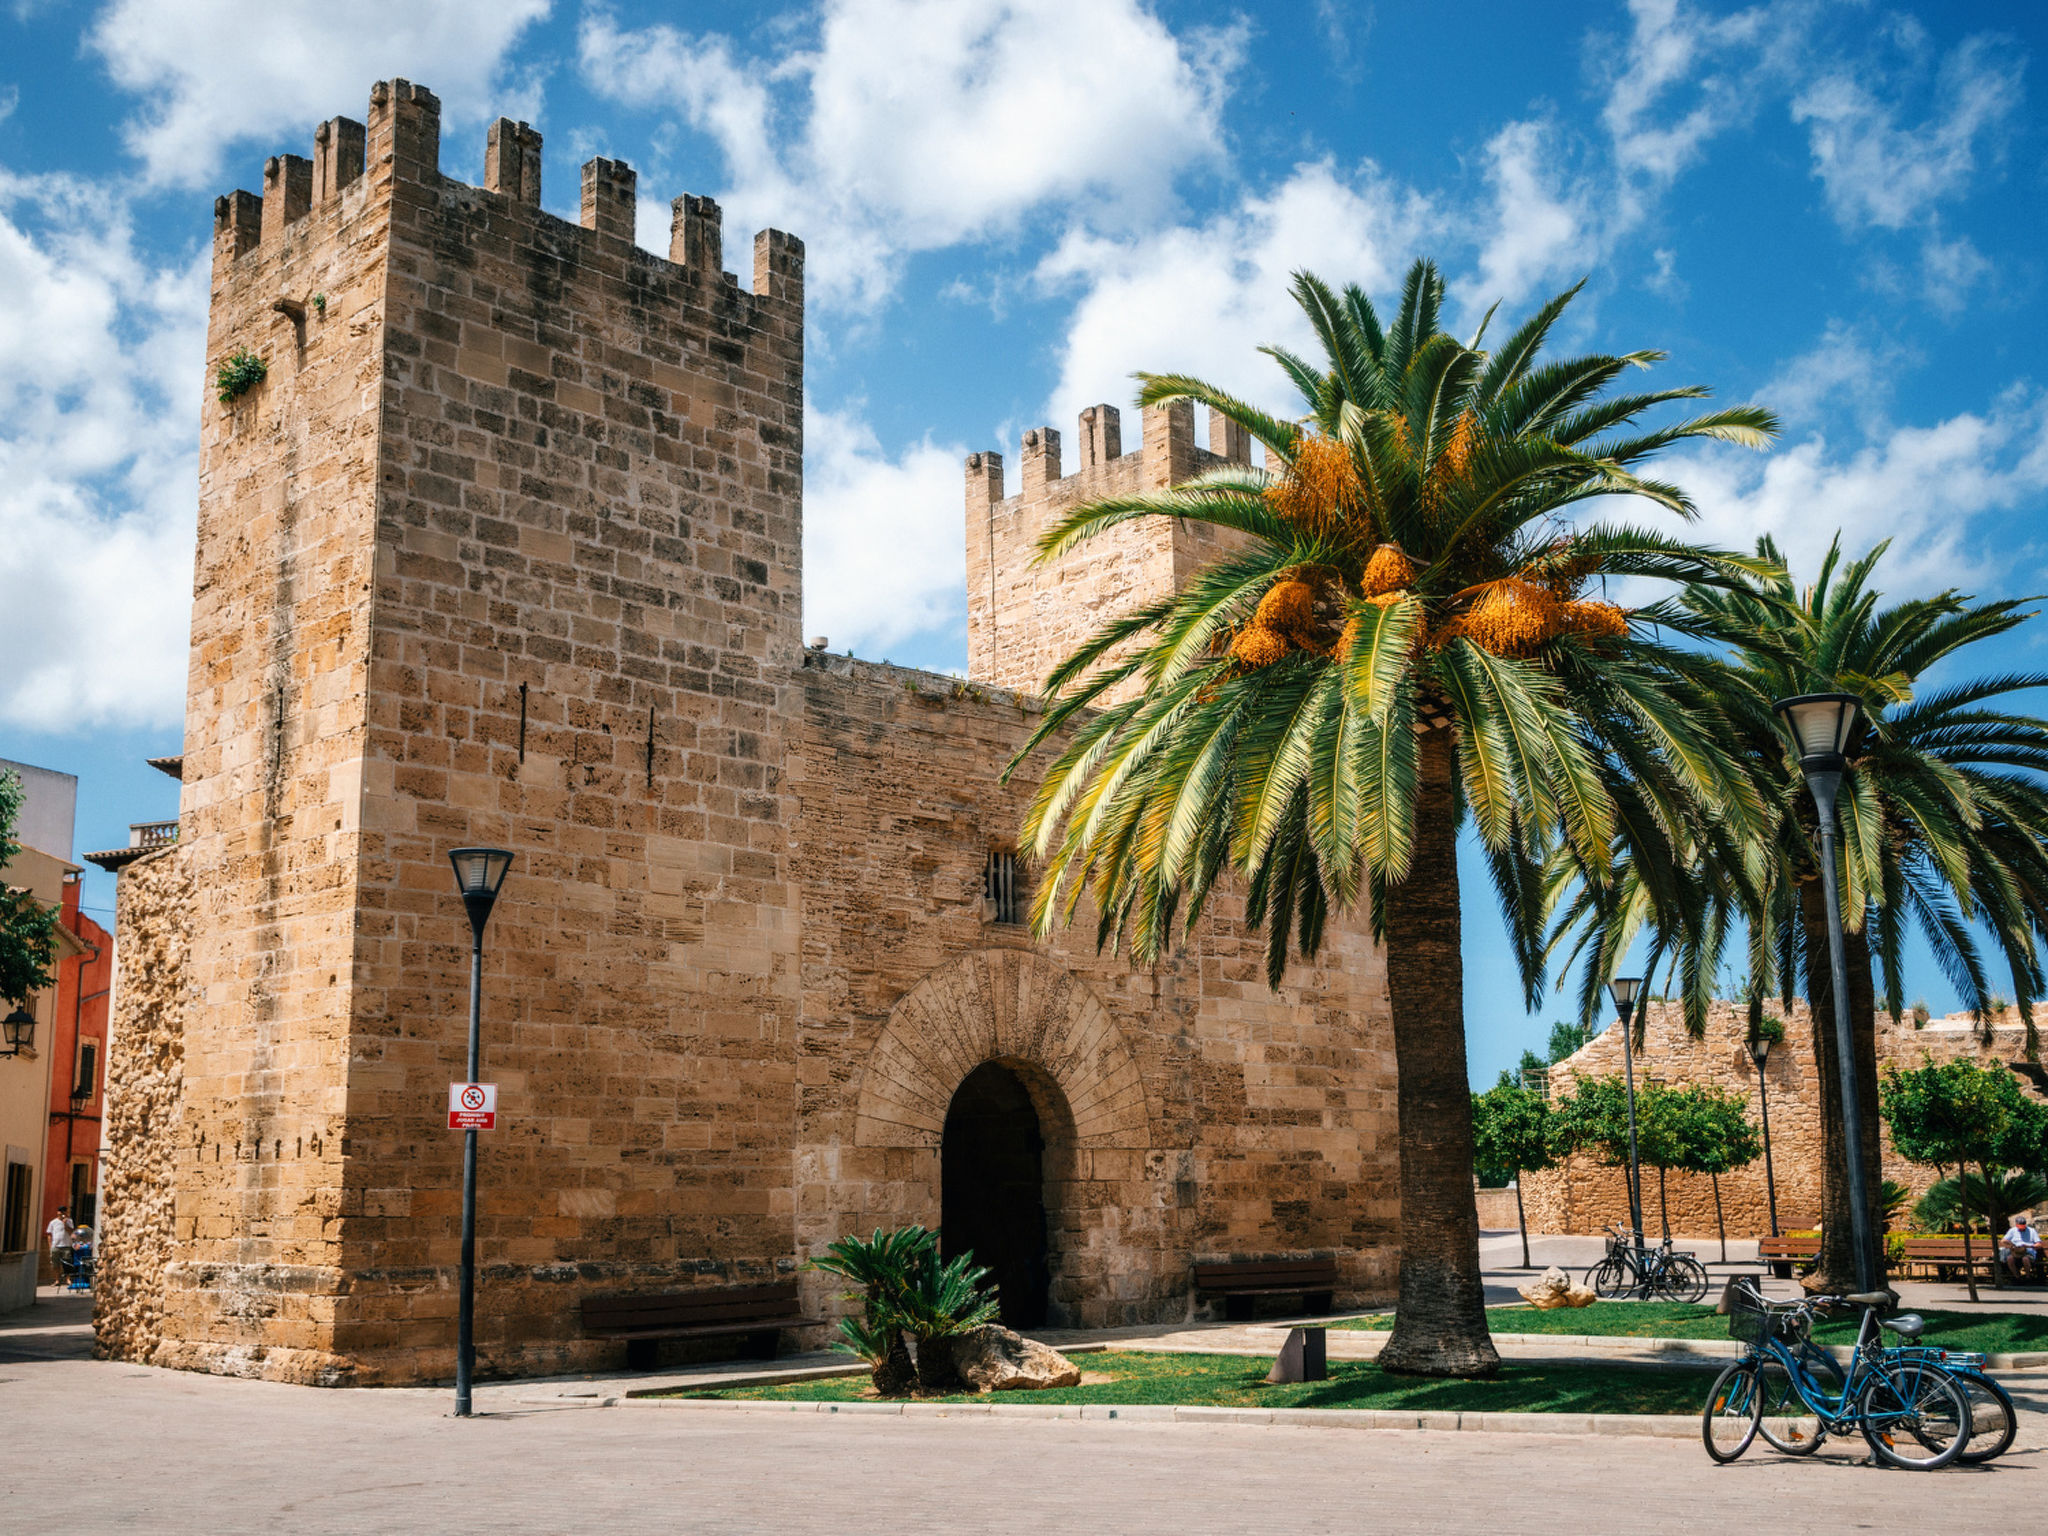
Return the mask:
<path id="1" fill-rule="evenodd" d="M 1733 1462 L 1761 1436 L 1774 1450 L 1808 1456 L 1825 1436 L 1849 1432 L 1860 1432 L 1880 1462 L 1909 1470 L 1948 1466 L 1964 1452 L 1989 1460 L 2003 1450 L 2003 1444 L 1972 1446 L 1970 1395 L 1933 1358 L 1944 1352 L 1884 1346 L 1886 1329 L 1903 1339 L 1921 1329 L 1911 1313 L 1880 1319 L 1886 1305 L 1884 1290 L 1769 1303 L 1751 1284 L 1731 1284 L 1729 1335 L 1745 1350 L 1706 1395 L 1700 1415 L 1706 1454 Z M 1812 1341 L 1812 1317 L 1829 1307 L 1864 1309 L 1847 1370 Z M 1993 1389 L 2011 1403 L 1995 1382 Z M 2009 1407 L 2005 1413 L 2009 1419 Z"/>

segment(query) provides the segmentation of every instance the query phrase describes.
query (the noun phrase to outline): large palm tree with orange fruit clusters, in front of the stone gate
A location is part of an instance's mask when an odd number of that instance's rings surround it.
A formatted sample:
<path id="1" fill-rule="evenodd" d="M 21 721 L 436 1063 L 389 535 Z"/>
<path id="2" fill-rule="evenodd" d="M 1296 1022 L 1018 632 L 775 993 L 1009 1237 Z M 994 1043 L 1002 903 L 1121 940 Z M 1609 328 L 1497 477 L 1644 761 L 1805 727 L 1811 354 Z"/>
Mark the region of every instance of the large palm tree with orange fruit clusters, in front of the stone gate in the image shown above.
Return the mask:
<path id="1" fill-rule="evenodd" d="M 1266 350 L 1300 391 L 1303 420 L 1184 375 L 1139 375 L 1141 403 L 1210 406 L 1264 444 L 1266 467 L 1075 508 L 1038 545 L 1053 559 L 1139 518 L 1237 537 L 1237 553 L 1104 625 L 1049 678 L 1051 707 L 1018 756 L 1067 737 L 1024 823 L 1047 874 L 1032 922 L 1071 922 L 1085 895 L 1098 944 L 1149 963 L 1233 872 L 1278 987 L 1290 950 L 1313 954 L 1331 911 L 1368 903 L 1399 1075 L 1391 1370 L 1497 1366 L 1473 1210 L 1460 819 L 1479 829 L 1524 963 L 1540 965 L 1550 842 L 1606 866 L 1616 807 L 1604 758 L 1655 758 L 1737 823 L 1761 815 L 1712 725 L 1671 702 L 1671 651 L 1595 586 L 1733 580 L 1753 561 L 1569 518 L 1614 494 L 1690 516 L 1679 487 L 1636 467 L 1690 438 L 1761 446 L 1774 420 L 1743 406 L 1632 430 L 1706 391 L 1610 393 L 1657 352 L 1542 362 L 1575 293 L 1483 348 L 1485 326 L 1470 342 L 1440 328 L 1444 281 L 1427 262 L 1409 272 L 1391 328 L 1360 289 L 1296 274 L 1323 356 Z M 1104 702 L 1122 684 L 1135 696 Z"/>

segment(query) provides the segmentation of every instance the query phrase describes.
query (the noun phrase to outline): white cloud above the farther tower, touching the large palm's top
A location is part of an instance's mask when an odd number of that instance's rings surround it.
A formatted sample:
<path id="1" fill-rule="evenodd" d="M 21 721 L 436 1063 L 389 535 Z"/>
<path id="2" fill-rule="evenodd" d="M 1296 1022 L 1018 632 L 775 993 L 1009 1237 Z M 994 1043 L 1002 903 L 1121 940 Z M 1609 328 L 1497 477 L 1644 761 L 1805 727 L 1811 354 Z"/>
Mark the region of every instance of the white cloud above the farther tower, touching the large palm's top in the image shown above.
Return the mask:
<path id="1" fill-rule="evenodd" d="M 1296 412 L 1286 377 L 1257 354 L 1272 342 L 1311 344 L 1288 297 L 1292 272 L 1358 283 L 1386 301 L 1436 223 L 1423 199 L 1370 162 L 1346 176 L 1321 160 L 1198 225 L 1128 238 L 1069 233 L 1038 264 L 1040 283 L 1081 295 L 1063 340 L 1053 426 L 1071 430 L 1096 401 L 1126 403 L 1137 369 L 1194 373 Z M 1137 428 L 1124 420 L 1126 446 Z"/>

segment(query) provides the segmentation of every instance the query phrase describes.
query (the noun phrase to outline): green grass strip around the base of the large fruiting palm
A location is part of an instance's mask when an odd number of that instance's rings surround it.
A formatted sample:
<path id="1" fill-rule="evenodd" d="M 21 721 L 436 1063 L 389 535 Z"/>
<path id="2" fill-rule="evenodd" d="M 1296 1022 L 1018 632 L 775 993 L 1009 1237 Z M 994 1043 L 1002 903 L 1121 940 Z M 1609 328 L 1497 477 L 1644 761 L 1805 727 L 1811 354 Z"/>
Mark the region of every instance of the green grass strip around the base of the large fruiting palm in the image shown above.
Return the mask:
<path id="1" fill-rule="evenodd" d="M 1106 1382 L 1047 1393 L 1016 1393 L 1020 1403 L 1186 1403 L 1210 1407 L 1346 1407 L 1473 1413 L 1698 1413 L 1712 1370 L 1657 1366 L 1552 1366 L 1518 1360 L 1489 1380 L 1417 1380 L 1391 1376 L 1370 1362 L 1331 1360 L 1329 1380 L 1268 1386 L 1270 1360 L 1227 1354 L 1147 1354 L 1106 1350 L 1075 1356 L 1087 1374 Z M 854 1403 L 868 1393 L 866 1376 L 735 1386 L 723 1393 L 676 1397 L 727 1397 L 756 1401 Z M 977 1401 L 973 1393 L 936 1399 Z M 1010 1395 L 1006 1395 L 1010 1401 Z"/>

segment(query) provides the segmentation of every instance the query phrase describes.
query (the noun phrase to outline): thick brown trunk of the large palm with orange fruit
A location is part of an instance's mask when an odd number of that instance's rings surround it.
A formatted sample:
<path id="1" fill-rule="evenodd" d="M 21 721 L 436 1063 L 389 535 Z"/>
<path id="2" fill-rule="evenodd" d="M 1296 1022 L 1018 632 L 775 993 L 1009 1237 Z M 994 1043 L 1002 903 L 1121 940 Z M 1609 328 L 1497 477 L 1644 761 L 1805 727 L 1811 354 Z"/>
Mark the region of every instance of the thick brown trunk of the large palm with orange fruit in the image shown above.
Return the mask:
<path id="1" fill-rule="evenodd" d="M 1415 854 L 1386 891 L 1386 997 L 1395 1024 L 1401 1147 L 1401 1298 L 1380 1370 L 1489 1376 L 1473 1202 L 1473 1087 L 1464 1067 L 1458 807 L 1448 729 L 1419 741 Z"/>

